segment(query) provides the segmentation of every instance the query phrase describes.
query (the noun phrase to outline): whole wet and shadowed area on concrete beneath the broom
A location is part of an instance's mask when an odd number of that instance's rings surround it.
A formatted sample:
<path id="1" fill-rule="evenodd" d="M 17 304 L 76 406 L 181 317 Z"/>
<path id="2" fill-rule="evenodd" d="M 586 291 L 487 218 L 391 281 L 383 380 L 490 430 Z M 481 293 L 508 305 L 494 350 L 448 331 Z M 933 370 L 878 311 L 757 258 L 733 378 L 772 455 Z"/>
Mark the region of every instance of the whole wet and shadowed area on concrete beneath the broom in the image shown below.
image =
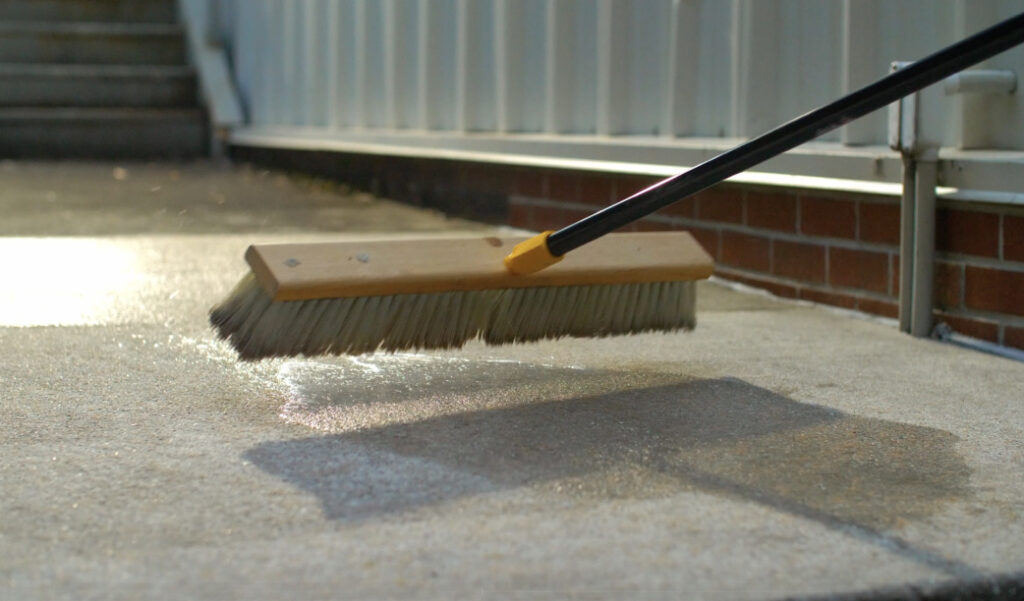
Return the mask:
<path id="1" fill-rule="evenodd" d="M 581 503 L 701 490 L 871 533 L 970 495 L 948 432 L 736 379 L 428 355 L 291 366 L 283 417 L 332 434 L 246 458 L 332 519 L 519 487 Z"/>

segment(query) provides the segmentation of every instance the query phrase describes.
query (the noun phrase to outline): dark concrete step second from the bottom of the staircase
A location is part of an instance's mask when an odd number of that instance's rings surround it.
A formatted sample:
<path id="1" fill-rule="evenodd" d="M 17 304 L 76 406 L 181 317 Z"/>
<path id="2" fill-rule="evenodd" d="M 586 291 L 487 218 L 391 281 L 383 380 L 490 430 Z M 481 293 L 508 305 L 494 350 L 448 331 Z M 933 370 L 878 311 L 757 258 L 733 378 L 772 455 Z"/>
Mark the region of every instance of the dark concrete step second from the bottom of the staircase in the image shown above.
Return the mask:
<path id="1" fill-rule="evenodd" d="M 195 106 L 196 100 L 189 67 L 0 63 L 0 106 Z"/>

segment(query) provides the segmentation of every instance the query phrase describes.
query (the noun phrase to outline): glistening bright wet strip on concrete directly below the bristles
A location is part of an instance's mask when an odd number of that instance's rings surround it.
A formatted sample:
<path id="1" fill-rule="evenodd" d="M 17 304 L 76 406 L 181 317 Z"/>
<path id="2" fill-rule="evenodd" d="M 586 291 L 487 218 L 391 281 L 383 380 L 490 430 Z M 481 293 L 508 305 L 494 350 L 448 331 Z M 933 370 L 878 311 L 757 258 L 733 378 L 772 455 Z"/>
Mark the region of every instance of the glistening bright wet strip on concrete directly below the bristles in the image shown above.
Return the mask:
<path id="1" fill-rule="evenodd" d="M 286 361 L 279 378 L 289 390 L 282 417 L 332 433 L 685 380 L 656 373 L 417 353 Z"/>

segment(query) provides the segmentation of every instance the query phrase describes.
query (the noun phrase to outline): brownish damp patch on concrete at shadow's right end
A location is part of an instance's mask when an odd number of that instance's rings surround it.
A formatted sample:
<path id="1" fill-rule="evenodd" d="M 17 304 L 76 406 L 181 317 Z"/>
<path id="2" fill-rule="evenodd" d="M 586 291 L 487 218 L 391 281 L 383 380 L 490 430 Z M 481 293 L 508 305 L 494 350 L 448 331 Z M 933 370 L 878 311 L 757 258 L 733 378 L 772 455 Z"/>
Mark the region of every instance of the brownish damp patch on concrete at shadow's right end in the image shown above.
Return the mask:
<path id="1" fill-rule="evenodd" d="M 709 486 L 886 530 L 970 495 L 971 471 L 956 442 L 942 430 L 843 416 L 697 446 L 678 459 Z"/>

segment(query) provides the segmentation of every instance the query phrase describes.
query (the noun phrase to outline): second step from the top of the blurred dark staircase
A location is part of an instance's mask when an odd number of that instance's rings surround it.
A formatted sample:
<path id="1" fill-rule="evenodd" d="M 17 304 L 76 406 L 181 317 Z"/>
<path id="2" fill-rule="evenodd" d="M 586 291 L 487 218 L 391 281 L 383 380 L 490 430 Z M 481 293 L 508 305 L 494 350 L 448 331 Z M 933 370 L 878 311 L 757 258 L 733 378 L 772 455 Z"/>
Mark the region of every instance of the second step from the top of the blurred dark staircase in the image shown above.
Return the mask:
<path id="1" fill-rule="evenodd" d="M 183 65 L 176 25 L 0 22 L 0 61 Z"/>

